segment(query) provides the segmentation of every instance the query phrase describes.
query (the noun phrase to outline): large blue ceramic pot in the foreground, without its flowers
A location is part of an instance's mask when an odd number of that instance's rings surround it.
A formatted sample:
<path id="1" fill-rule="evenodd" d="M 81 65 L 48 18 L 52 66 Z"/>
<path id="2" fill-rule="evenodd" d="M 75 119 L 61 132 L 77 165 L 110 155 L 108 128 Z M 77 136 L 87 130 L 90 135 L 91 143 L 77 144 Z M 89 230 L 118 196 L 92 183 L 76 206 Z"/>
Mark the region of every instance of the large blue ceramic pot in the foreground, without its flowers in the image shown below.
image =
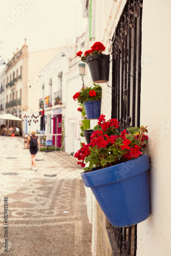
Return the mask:
<path id="1" fill-rule="evenodd" d="M 132 226 L 150 215 L 147 154 L 133 160 L 81 173 L 101 209 L 115 227 Z"/>

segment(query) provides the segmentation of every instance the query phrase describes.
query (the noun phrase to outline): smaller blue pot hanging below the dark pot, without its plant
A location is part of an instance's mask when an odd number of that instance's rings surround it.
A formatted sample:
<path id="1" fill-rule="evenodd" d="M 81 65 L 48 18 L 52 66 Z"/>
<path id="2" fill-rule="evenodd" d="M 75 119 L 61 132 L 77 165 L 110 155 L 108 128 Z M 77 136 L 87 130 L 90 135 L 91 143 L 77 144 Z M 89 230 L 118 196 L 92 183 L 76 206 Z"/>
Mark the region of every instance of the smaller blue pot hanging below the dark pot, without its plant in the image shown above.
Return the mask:
<path id="1" fill-rule="evenodd" d="M 100 116 L 101 100 L 91 101 L 83 103 L 84 109 L 88 119 L 98 119 Z"/>

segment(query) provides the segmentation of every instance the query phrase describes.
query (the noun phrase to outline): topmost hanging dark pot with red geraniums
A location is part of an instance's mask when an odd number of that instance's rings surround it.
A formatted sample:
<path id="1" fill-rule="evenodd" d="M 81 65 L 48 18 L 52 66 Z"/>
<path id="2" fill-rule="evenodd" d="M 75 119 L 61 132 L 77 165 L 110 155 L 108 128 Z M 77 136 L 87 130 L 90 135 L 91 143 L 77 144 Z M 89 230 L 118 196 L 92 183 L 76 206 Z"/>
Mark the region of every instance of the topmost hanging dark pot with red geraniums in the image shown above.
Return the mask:
<path id="1" fill-rule="evenodd" d="M 79 51 L 76 56 L 87 62 L 92 80 L 95 83 L 102 83 L 109 80 L 109 60 L 110 56 L 103 54 L 105 47 L 101 42 L 95 42 L 90 50 Z"/>

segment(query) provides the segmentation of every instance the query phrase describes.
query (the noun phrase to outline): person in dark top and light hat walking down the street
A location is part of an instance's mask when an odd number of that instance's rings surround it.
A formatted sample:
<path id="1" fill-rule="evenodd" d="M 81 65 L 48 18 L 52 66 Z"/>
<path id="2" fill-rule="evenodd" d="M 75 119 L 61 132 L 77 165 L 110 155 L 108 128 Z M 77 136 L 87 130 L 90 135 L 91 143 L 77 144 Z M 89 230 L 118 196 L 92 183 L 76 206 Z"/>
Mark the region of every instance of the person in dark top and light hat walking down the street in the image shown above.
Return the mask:
<path id="1" fill-rule="evenodd" d="M 27 139 L 27 148 L 29 148 L 29 143 L 30 143 L 30 153 L 31 153 L 31 169 L 35 170 L 36 172 L 38 168 L 36 167 L 35 155 L 37 154 L 37 150 L 38 150 L 37 145 L 39 145 L 39 140 L 38 140 L 38 137 L 36 136 L 36 130 L 31 130 L 30 136 L 28 136 L 28 139 Z"/>

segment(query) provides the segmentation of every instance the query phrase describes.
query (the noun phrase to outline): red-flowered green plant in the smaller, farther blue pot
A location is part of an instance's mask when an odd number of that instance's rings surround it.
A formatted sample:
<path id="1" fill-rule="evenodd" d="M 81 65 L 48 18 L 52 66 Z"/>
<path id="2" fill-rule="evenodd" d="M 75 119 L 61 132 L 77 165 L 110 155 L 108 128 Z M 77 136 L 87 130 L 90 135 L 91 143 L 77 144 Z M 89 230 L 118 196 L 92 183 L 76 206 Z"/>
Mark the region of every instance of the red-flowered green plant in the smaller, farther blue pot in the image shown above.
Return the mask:
<path id="1" fill-rule="evenodd" d="M 92 87 L 82 88 L 79 92 L 73 96 L 74 100 L 78 100 L 78 103 L 84 103 L 88 100 L 95 101 L 101 99 L 101 86 L 93 83 Z"/>

